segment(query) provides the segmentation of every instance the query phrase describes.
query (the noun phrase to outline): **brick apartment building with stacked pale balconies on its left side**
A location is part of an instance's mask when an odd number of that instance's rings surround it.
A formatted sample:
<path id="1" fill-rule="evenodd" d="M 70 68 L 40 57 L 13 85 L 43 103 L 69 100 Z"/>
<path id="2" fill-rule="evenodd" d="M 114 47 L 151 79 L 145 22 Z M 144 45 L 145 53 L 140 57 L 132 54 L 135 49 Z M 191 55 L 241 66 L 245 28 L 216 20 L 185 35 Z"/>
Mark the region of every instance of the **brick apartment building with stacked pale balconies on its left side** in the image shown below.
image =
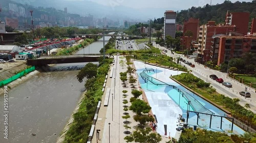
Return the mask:
<path id="1" fill-rule="evenodd" d="M 216 25 L 215 21 L 208 21 L 207 24 L 201 25 L 198 38 L 199 58 L 209 61 L 212 36 L 218 34 L 228 35 L 230 31 L 234 31 L 235 27 L 235 25 Z"/>

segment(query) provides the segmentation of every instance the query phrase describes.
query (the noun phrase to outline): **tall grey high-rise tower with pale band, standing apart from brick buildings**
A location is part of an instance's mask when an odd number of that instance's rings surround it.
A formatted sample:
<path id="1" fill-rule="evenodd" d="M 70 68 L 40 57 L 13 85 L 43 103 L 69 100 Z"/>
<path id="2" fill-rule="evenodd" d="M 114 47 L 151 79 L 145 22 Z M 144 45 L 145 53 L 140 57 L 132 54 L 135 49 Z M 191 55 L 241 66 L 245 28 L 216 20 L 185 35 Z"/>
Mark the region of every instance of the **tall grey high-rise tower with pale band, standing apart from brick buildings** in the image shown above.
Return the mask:
<path id="1" fill-rule="evenodd" d="M 175 38 L 176 34 L 176 12 L 170 10 L 164 13 L 164 40 L 167 35 Z"/>

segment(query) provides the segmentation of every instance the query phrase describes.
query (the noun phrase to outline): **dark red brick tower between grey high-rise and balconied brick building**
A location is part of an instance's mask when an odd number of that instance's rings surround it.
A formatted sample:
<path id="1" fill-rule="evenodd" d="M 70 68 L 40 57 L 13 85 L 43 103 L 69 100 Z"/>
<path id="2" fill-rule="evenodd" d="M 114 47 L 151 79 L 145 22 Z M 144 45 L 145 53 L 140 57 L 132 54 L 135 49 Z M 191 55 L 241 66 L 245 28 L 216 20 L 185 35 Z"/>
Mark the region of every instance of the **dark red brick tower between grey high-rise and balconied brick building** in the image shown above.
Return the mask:
<path id="1" fill-rule="evenodd" d="M 191 31 L 193 33 L 192 40 L 198 39 L 199 34 L 199 19 L 189 18 L 188 21 L 184 21 L 183 26 L 183 36 L 186 31 Z"/>

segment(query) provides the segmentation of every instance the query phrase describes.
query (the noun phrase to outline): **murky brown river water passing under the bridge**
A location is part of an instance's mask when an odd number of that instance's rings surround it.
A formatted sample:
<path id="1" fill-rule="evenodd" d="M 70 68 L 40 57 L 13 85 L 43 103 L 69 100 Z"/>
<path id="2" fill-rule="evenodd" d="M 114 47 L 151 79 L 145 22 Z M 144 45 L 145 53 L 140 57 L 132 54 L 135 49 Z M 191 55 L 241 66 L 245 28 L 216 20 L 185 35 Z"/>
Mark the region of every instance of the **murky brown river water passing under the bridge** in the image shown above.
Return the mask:
<path id="1" fill-rule="evenodd" d="M 105 37 L 105 44 L 110 37 Z M 99 53 L 102 38 L 78 51 Z M 59 64 L 51 72 L 41 72 L 8 92 L 8 140 L 4 138 L 4 116 L 0 116 L 0 143 L 56 142 L 70 118 L 84 81 L 76 79 L 78 70 L 86 63 Z M 64 71 L 63 71 L 64 70 Z M 69 70 L 69 71 L 67 71 Z M 4 96 L 0 95 L 0 112 L 4 115 Z M 32 133 L 36 135 L 32 135 Z"/>

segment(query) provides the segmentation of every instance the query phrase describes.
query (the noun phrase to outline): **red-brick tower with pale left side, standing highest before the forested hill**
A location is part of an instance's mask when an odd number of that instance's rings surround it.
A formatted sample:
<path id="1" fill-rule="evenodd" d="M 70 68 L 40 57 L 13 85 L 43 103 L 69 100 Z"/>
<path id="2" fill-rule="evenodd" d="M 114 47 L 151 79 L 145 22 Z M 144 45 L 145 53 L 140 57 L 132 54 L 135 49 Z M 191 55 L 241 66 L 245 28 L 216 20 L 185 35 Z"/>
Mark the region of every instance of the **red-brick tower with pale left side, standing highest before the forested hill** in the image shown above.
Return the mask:
<path id="1" fill-rule="evenodd" d="M 249 12 L 230 12 L 226 13 L 225 25 L 236 25 L 237 32 L 244 35 L 248 33 L 250 13 Z"/>

